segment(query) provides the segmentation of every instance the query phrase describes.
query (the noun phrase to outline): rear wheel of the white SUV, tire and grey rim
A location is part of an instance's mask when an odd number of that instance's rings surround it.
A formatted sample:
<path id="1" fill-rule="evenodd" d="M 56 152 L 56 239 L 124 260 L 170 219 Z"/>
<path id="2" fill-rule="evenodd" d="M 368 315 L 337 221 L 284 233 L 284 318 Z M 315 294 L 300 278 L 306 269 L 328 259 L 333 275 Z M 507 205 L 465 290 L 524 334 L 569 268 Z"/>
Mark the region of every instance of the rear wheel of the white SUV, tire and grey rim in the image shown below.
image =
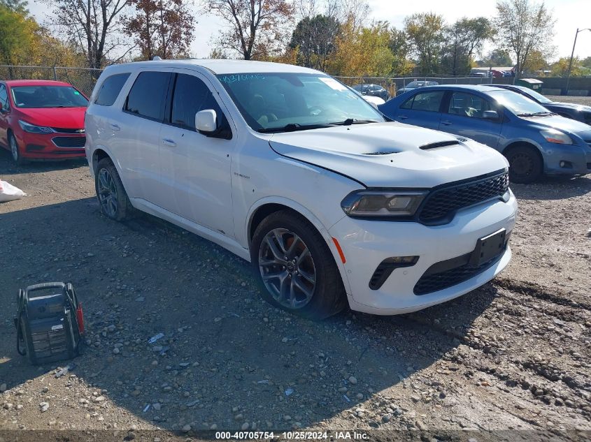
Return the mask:
<path id="1" fill-rule="evenodd" d="M 106 187 L 109 194 L 104 190 Z M 115 221 L 133 218 L 135 209 L 127 197 L 127 192 L 111 159 L 104 158 L 99 161 L 97 173 L 94 175 L 94 190 L 97 192 L 101 212 L 105 216 Z"/>

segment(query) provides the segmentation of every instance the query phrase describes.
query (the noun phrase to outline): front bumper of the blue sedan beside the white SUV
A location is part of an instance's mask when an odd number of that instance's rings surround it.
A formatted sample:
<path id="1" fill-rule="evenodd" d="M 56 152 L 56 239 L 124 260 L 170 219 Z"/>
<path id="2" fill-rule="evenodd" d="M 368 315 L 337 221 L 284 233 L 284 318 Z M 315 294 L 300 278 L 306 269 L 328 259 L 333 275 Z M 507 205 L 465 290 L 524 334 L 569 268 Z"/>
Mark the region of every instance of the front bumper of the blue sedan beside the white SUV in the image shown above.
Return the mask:
<path id="1" fill-rule="evenodd" d="M 545 143 L 542 146 L 544 172 L 553 175 L 585 175 L 591 173 L 590 145 L 557 145 Z"/>

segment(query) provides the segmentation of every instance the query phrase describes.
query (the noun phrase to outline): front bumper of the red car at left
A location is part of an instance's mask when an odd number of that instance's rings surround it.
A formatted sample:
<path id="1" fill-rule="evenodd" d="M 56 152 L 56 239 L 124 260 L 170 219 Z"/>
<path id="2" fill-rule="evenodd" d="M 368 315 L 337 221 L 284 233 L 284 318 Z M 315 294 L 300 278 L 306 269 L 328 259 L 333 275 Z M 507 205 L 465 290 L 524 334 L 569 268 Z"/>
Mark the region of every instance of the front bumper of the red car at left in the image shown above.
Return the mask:
<path id="1" fill-rule="evenodd" d="M 15 131 L 20 155 L 26 159 L 71 159 L 86 156 L 85 135 Z"/>

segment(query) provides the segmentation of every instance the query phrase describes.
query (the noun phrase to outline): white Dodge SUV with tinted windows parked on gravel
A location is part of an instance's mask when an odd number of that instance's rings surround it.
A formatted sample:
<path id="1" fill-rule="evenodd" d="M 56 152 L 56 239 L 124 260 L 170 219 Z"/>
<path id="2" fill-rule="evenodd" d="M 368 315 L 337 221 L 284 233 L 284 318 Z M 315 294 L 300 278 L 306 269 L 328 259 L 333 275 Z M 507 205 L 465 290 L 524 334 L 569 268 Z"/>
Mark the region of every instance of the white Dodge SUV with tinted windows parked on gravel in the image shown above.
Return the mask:
<path id="1" fill-rule="evenodd" d="M 507 162 L 387 121 L 334 78 L 285 64 L 109 66 L 86 113 L 101 211 L 140 209 L 252 262 L 295 314 L 415 311 L 511 259 Z"/>

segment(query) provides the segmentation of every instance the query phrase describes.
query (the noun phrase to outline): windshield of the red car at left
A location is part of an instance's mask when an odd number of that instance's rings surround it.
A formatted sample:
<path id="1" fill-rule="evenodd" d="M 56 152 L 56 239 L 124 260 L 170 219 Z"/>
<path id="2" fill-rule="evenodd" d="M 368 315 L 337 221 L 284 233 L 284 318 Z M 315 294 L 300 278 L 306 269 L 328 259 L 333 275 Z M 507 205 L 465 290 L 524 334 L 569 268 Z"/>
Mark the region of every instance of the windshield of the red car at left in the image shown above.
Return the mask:
<path id="1" fill-rule="evenodd" d="M 12 87 L 17 108 L 85 108 L 88 100 L 71 86 Z"/>

